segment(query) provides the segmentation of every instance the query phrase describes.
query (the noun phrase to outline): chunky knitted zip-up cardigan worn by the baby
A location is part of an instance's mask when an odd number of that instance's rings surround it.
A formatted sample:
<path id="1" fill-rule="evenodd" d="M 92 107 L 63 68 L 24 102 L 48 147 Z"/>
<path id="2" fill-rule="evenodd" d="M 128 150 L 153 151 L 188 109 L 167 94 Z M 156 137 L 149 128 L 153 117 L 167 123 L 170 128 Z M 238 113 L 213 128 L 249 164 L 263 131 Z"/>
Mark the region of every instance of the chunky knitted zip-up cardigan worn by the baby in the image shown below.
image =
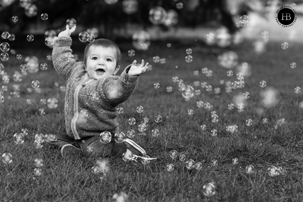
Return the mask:
<path id="1" fill-rule="evenodd" d="M 71 37 L 55 37 L 52 50 L 54 67 L 66 82 L 67 134 L 79 140 L 109 131 L 114 137 L 119 132 L 116 107 L 134 92 L 139 76 L 128 75 L 128 65 L 120 76 L 89 79 L 83 62 L 73 59 L 71 45 Z"/>

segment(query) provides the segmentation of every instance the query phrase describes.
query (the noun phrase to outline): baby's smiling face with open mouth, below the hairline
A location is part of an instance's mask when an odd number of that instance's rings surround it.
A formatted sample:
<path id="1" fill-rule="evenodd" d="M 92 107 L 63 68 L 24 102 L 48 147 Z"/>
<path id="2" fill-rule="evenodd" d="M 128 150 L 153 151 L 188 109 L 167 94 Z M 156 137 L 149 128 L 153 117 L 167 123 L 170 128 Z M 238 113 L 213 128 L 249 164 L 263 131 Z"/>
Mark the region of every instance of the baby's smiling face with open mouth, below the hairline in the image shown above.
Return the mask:
<path id="1" fill-rule="evenodd" d="M 116 50 L 104 48 L 101 46 L 91 46 L 88 51 L 86 62 L 86 71 L 90 79 L 98 80 L 99 78 L 115 75 L 120 66 L 116 67 Z"/>

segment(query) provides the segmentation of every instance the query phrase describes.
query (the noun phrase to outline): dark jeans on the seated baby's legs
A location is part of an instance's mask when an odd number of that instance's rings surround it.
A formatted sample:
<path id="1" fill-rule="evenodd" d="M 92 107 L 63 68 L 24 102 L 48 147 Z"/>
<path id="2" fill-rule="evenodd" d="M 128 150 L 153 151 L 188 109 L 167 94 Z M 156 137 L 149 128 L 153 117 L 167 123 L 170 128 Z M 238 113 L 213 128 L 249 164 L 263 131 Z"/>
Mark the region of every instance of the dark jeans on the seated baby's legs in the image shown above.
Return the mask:
<path id="1" fill-rule="evenodd" d="M 72 144 L 74 147 L 81 149 L 82 154 L 87 157 L 106 157 L 122 158 L 122 154 L 126 152 L 124 143 L 109 142 L 103 144 L 99 141 L 98 136 L 86 137 L 81 140 L 75 140 L 68 137 L 67 133 L 55 134 L 57 140 L 49 142 L 54 147 L 61 147 L 65 144 Z M 91 146 L 92 151 L 88 152 L 87 147 Z"/>

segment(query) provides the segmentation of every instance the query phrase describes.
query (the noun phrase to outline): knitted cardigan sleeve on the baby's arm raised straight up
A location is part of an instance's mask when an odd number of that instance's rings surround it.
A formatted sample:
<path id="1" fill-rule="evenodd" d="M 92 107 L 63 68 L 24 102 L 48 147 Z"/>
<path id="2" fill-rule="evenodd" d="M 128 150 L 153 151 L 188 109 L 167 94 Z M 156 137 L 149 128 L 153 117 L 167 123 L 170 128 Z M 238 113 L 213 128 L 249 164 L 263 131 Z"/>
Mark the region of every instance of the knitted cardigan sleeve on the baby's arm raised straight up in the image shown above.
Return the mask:
<path id="1" fill-rule="evenodd" d="M 72 56 L 72 38 L 62 36 L 54 38 L 54 47 L 52 51 L 53 64 L 59 76 L 67 82 L 70 73 L 73 70 L 75 59 Z"/>

